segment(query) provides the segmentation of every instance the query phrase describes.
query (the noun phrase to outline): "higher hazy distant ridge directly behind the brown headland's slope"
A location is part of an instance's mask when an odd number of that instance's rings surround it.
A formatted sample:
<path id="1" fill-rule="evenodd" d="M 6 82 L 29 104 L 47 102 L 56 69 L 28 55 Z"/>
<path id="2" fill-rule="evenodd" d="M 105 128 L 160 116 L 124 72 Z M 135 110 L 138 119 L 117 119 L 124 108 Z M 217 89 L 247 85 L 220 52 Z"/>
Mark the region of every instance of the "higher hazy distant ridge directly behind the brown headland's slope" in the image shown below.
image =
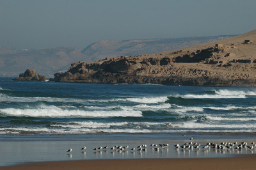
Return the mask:
<path id="1" fill-rule="evenodd" d="M 102 40 L 92 43 L 82 50 L 83 54 L 90 56 L 94 61 L 117 56 L 136 56 L 140 54 L 153 54 L 167 50 L 181 49 L 201 43 L 222 40 L 237 35 L 204 36 L 188 38 L 162 38 L 148 40 Z"/>

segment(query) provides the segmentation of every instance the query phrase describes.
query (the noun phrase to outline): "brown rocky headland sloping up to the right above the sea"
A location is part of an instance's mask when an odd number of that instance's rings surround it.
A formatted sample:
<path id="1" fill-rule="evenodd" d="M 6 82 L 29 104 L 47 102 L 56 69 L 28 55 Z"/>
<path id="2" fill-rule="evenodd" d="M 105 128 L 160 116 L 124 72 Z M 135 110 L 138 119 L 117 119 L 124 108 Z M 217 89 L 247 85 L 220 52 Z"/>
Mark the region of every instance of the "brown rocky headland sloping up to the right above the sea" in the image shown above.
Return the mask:
<path id="1" fill-rule="evenodd" d="M 256 86 L 256 30 L 244 35 L 156 54 L 72 63 L 56 82 Z"/>

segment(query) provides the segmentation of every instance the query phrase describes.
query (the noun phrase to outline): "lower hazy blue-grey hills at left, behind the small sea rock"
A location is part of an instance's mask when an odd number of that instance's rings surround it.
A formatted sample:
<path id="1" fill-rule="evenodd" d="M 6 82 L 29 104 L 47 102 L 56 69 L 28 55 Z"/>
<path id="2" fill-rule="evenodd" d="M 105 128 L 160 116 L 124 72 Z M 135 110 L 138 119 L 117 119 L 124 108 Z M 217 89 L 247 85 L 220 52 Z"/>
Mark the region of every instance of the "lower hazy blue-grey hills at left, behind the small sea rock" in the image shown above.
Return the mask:
<path id="1" fill-rule="evenodd" d="M 92 61 L 81 53 L 83 49 L 59 47 L 54 49 L 20 50 L 6 48 L 0 51 L 0 76 L 16 77 L 27 68 L 35 69 L 36 73 L 52 76 L 54 72 L 67 70 L 70 63 L 76 61 Z"/>

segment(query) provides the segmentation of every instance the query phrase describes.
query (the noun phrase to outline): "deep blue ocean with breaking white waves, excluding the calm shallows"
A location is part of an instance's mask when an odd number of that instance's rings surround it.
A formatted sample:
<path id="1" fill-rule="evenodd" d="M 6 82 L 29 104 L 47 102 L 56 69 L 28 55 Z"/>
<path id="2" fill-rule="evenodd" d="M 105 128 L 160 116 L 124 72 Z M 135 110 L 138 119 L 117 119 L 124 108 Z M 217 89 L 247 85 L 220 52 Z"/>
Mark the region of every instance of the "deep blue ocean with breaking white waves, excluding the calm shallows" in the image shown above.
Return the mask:
<path id="1" fill-rule="evenodd" d="M 0 135 L 255 132 L 254 87 L 0 79 Z"/>

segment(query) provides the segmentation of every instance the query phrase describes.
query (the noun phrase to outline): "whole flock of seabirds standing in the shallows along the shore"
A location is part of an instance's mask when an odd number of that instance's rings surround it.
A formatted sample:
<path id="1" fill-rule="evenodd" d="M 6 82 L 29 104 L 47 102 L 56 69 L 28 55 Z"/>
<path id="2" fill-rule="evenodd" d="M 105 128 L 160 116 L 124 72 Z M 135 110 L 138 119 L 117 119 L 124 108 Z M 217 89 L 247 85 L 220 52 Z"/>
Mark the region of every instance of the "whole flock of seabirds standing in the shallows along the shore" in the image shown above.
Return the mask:
<path id="1" fill-rule="evenodd" d="M 150 148 L 158 151 L 159 149 L 163 149 L 163 148 L 168 148 L 169 144 L 150 144 Z M 207 143 L 201 146 L 200 143 L 193 143 L 193 142 L 189 142 L 189 143 L 184 143 L 184 144 L 175 144 L 174 148 L 176 149 L 181 149 L 181 150 L 185 150 L 185 149 L 189 149 L 189 150 L 200 150 L 201 148 L 203 150 L 207 150 L 210 148 L 213 149 L 218 149 L 218 150 L 228 150 L 228 149 L 234 149 L 234 150 L 255 150 L 256 144 L 255 142 L 251 143 L 250 145 L 246 142 L 242 142 L 242 143 L 228 143 L 228 142 L 222 142 L 220 144 L 217 143 Z M 129 146 L 113 146 L 112 148 L 110 148 L 111 151 L 128 151 Z M 84 146 L 83 148 L 81 148 L 81 150 L 85 150 L 86 146 Z M 105 146 L 102 148 L 102 146 L 97 147 L 97 148 L 93 148 L 94 151 L 101 151 L 101 150 L 107 150 L 108 146 Z M 137 148 L 131 148 L 129 149 L 131 151 L 147 151 L 147 144 L 141 144 L 139 146 L 137 146 Z M 72 151 L 72 148 L 70 148 L 69 150 L 67 150 L 68 152 Z"/>

